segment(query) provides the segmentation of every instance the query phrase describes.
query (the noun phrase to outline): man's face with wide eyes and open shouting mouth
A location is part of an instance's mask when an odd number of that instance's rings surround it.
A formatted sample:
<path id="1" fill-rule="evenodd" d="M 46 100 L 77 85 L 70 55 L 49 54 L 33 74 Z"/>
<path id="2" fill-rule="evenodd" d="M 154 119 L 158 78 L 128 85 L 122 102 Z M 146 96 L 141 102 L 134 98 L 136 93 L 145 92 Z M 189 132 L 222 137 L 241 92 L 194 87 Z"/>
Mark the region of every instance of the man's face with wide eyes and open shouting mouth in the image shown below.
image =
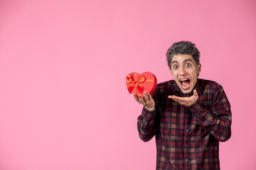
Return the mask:
<path id="1" fill-rule="evenodd" d="M 190 93 L 198 79 L 201 64 L 196 66 L 192 55 L 174 55 L 171 61 L 171 75 L 184 94 Z"/>

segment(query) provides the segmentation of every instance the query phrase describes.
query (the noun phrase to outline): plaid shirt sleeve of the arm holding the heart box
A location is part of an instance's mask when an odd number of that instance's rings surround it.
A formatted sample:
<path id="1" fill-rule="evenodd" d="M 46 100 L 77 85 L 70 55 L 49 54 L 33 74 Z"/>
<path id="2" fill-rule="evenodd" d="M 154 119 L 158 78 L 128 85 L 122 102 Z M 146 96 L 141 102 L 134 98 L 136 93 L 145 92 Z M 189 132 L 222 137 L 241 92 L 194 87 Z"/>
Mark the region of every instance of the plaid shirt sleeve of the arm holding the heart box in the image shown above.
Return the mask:
<path id="1" fill-rule="evenodd" d="M 156 90 L 152 93 L 152 98 L 155 101 L 155 110 L 149 111 L 143 107 L 141 115 L 138 117 L 137 128 L 139 137 L 142 141 L 149 141 L 156 134 L 156 115 L 158 109 L 158 100 L 156 97 Z"/>

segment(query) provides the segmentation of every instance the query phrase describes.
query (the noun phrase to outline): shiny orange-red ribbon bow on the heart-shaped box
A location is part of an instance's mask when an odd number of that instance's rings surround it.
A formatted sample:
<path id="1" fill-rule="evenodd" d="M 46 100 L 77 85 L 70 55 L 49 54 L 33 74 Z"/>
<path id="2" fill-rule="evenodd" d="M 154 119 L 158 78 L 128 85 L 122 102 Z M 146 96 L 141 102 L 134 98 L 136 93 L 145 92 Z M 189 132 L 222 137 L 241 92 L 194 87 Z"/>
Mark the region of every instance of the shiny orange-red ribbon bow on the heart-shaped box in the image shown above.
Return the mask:
<path id="1" fill-rule="evenodd" d="M 142 94 L 144 91 L 144 87 L 141 83 L 145 82 L 145 81 L 146 81 L 146 78 L 143 75 L 135 73 L 135 78 L 133 78 L 132 75 L 129 74 L 126 77 L 126 82 L 128 83 L 127 88 L 128 88 L 129 93 L 131 94 L 132 90 L 135 88 L 135 93 L 138 89 L 139 94 Z"/>

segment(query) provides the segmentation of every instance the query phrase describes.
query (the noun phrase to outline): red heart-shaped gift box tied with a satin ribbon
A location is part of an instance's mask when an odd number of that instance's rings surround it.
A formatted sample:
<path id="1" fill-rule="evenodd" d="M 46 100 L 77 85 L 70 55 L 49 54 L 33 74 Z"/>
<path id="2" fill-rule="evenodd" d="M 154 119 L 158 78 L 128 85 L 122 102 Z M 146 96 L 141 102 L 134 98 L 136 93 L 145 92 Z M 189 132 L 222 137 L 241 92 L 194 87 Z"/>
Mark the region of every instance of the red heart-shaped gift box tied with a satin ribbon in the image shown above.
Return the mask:
<path id="1" fill-rule="evenodd" d="M 147 93 L 152 93 L 157 86 L 157 77 L 150 72 L 142 73 L 141 75 L 138 73 L 130 73 L 126 76 L 126 85 L 129 93 L 136 93 L 138 96 L 146 91 Z"/>

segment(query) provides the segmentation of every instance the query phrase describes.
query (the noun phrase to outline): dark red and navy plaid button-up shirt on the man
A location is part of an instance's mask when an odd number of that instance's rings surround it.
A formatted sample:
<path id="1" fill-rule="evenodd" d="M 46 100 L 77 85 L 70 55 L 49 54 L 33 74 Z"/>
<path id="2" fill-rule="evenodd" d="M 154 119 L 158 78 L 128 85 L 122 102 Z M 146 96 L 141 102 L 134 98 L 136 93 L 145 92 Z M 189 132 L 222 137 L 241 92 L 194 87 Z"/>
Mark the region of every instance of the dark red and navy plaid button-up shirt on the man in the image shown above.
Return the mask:
<path id="1" fill-rule="evenodd" d="M 218 83 L 198 79 L 198 101 L 184 106 L 168 95 L 190 97 L 180 91 L 174 80 L 157 84 L 152 97 L 155 110 L 145 107 L 138 117 L 139 137 L 149 141 L 155 136 L 157 170 L 219 170 L 219 141 L 231 136 L 231 110 L 227 96 Z"/>

